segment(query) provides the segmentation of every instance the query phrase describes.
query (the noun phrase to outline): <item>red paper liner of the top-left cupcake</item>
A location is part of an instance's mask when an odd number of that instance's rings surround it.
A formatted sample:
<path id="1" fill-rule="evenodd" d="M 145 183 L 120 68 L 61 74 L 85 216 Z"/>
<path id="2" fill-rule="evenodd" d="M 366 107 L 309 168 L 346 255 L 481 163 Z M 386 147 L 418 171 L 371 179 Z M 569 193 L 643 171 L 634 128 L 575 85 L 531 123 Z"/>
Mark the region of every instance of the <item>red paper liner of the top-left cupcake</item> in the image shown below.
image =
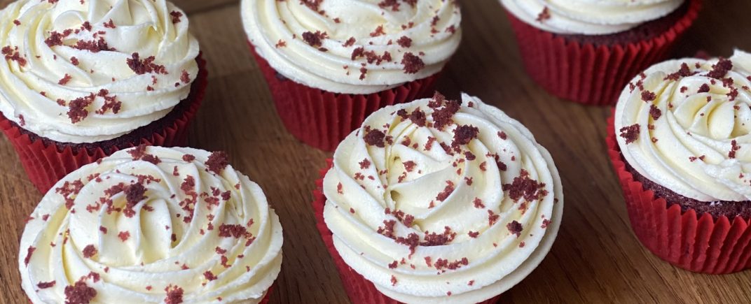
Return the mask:
<path id="1" fill-rule="evenodd" d="M 208 78 L 206 61 L 201 58 L 201 55 L 198 56 L 196 61 L 198 61 L 198 76 L 192 84 L 189 96 L 181 101 L 181 103 L 189 103 L 189 106 L 181 115 L 176 115 L 173 121 L 160 122 L 159 127 L 149 136 L 134 136 L 131 140 L 95 149 L 71 147 L 70 145 L 63 145 L 64 143 L 32 136 L 29 131 L 22 130 L 20 126 L 5 118 L 2 113 L 0 113 L 0 130 L 13 144 L 26 174 L 29 175 L 29 180 L 42 193 L 46 193 L 58 180 L 77 168 L 96 162 L 115 151 L 140 144 L 164 147 L 185 146 L 188 143 L 189 124 L 204 99 Z"/>

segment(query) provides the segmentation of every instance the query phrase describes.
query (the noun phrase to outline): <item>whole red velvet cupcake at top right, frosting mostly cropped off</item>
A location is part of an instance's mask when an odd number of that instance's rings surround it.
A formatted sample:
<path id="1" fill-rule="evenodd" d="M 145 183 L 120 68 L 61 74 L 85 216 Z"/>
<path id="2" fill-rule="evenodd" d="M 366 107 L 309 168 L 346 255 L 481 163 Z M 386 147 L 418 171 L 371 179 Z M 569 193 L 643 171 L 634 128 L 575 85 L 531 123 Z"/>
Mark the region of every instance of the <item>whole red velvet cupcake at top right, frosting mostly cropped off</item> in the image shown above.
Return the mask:
<path id="1" fill-rule="evenodd" d="M 529 76 L 550 94 L 586 105 L 614 104 L 701 9 L 701 0 L 500 1 Z"/>

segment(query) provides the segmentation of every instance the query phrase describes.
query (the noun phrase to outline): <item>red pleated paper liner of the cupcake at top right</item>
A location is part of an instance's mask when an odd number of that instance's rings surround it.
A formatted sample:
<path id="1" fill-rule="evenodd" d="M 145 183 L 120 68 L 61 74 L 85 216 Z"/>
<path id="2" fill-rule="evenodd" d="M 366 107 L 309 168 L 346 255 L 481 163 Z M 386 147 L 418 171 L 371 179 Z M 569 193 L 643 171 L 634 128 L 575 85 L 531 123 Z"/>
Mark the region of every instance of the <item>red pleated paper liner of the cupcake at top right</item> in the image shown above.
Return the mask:
<path id="1" fill-rule="evenodd" d="M 675 25 L 650 40 L 612 46 L 579 43 L 542 31 L 507 13 L 527 73 L 556 97 L 590 106 L 614 105 L 638 73 L 665 58 L 701 10 L 701 0 Z"/>

